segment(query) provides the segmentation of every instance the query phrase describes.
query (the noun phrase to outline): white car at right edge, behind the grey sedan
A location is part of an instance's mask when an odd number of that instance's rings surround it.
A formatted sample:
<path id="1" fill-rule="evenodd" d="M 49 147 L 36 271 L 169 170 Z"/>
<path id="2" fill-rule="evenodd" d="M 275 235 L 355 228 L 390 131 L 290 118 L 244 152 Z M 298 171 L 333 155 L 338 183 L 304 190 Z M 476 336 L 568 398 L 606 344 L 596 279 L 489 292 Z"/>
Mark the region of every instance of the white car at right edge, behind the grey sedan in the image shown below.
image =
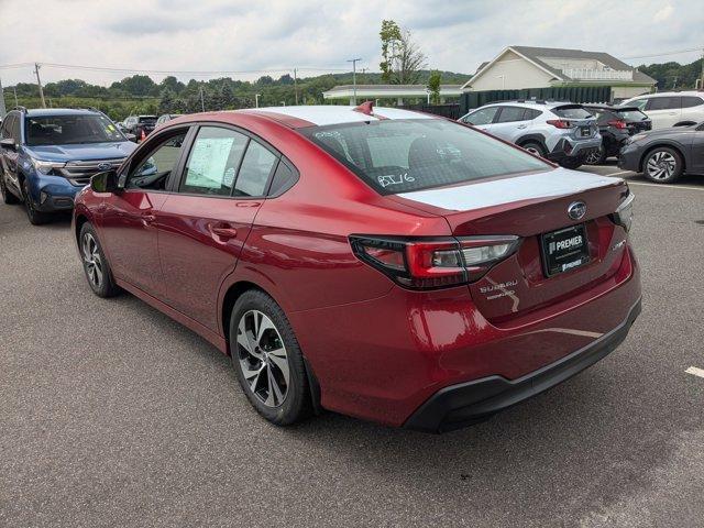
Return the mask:
<path id="1" fill-rule="evenodd" d="M 622 106 L 637 107 L 652 120 L 652 129 L 686 127 L 704 121 L 704 94 L 701 91 L 661 91 L 625 100 Z"/>

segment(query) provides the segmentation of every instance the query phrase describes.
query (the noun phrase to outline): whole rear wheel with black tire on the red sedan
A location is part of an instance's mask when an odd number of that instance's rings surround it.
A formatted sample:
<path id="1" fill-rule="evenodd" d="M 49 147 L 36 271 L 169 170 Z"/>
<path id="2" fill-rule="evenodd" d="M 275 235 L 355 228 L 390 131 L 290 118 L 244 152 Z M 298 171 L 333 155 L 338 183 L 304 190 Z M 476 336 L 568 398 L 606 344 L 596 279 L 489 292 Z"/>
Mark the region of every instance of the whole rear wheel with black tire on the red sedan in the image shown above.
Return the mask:
<path id="1" fill-rule="evenodd" d="M 250 289 L 234 304 L 230 351 L 242 391 L 260 415 L 277 426 L 310 416 L 310 388 L 298 340 L 284 310 L 265 293 Z"/>

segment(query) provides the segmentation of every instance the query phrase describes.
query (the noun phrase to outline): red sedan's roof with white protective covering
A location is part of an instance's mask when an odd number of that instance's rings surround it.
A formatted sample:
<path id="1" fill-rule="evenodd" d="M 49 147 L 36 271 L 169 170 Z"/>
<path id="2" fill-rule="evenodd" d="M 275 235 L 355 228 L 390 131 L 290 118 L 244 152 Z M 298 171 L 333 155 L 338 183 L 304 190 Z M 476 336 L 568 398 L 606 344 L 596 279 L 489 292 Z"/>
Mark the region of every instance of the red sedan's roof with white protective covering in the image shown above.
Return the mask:
<path id="1" fill-rule="evenodd" d="M 387 119 L 440 119 L 428 113 L 403 110 L 400 108 L 373 107 L 372 113 L 363 113 L 353 106 L 319 105 L 300 107 L 267 107 L 248 110 L 234 110 L 237 113 L 250 113 L 274 119 L 288 127 L 323 127 L 328 124 L 361 123 Z"/>

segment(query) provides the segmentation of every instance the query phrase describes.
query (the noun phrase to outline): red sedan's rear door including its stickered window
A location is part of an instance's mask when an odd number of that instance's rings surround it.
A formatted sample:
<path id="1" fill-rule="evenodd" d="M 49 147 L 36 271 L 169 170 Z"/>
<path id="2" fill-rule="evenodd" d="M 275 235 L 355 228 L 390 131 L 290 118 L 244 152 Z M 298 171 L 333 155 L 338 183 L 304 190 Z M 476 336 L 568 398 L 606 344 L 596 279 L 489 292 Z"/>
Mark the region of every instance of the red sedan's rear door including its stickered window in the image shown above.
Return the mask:
<path id="1" fill-rule="evenodd" d="M 157 213 L 167 302 L 213 331 L 220 285 L 237 265 L 278 157 L 245 131 L 204 124 Z"/>

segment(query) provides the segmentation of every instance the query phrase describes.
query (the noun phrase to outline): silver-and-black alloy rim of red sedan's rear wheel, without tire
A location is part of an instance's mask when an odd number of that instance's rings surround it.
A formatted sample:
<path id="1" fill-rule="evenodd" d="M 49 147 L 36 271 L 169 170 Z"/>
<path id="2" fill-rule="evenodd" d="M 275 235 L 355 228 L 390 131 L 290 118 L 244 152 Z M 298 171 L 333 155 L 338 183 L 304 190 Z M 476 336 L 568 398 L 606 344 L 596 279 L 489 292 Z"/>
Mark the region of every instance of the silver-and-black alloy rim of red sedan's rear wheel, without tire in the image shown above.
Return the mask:
<path id="1" fill-rule="evenodd" d="M 267 407 L 286 399 L 289 367 L 286 346 L 274 322 L 258 310 L 249 310 L 238 324 L 238 359 L 250 391 Z"/>

